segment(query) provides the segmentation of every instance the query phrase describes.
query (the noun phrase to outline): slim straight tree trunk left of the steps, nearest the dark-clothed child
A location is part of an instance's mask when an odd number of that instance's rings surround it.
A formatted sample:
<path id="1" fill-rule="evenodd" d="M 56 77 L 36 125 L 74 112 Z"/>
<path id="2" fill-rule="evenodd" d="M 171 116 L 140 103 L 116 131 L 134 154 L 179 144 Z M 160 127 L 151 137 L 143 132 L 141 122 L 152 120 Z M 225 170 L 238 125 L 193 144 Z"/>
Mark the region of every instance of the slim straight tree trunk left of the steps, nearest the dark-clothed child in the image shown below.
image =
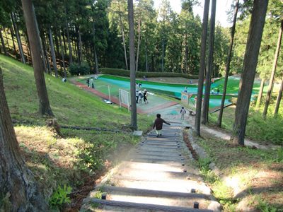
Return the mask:
<path id="1" fill-rule="evenodd" d="M 128 0 L 129 18 L 129 69 L 131 83 L 131 126 L 137 130 L 137 102 L 136 102 L 136 72 L 134 71 L 134 6 L 133 1 Z"/>

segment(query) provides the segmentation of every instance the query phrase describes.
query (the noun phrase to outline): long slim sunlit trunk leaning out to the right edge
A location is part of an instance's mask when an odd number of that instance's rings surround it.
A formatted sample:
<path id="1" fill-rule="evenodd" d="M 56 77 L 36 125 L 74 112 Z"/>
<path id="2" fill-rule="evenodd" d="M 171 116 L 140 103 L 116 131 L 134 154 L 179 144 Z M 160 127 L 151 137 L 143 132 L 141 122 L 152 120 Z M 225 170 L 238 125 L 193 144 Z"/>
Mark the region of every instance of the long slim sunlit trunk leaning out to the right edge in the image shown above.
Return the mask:
<path id="1" fill-rule="evenodd" d="M 270 98 L 271 98 L 272 90 L 273 90 L 275 71 L 276 71 L 279 51 L 280 51 L 280 47 L 281 47 L 282 30 L 283 30 L 283 20 L 281 20 L 281 25 L 280 25 L 280 28 L 279 28 L 277 47 L 276 47 L 276 51 L 275 51 L 275 59 L 273 61 L 272 72 L 271 72 L 271 76 L 270 76 L 270 84 L 268 85 L 268 89 L 267 89 L 267 95 L 266 95 L 266 99 L 265 99 L 265 109 L 263 110 L 263 113 L 262 113 L 264 118 L 266 118 L 267 109 L 268 109 L 268 106 L 270 105 Z"/>

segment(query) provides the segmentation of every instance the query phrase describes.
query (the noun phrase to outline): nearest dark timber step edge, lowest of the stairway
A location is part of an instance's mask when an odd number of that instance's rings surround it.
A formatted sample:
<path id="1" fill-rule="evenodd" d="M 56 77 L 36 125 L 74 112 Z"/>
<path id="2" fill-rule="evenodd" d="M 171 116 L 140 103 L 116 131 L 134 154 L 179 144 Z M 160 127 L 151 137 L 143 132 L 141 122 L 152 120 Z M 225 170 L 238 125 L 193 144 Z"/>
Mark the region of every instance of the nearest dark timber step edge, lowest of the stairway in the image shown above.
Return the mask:
<path id="1" fill-rule="evenodd" d="M 163 206 L 158 204 L 141 204 L 127 201 L 111 201 L 105 199 L 90 199 L 91 204 L 96 204 L 102 208 L 103 211 L 112 211 L 110 208 L 103 208 L 103 206 L 114 206 L 114 211 L 117 211 L 117 207 L 120 207 L 122 211 L 170 211 L 170 212 L 212 212 L 212 210 L 207 209 L 195 209 L 187 207 L 178 206 Z M 109 210 L 110 209 L 110 210 Z M 91 208 L 88 208 L 91 210 Z"/>

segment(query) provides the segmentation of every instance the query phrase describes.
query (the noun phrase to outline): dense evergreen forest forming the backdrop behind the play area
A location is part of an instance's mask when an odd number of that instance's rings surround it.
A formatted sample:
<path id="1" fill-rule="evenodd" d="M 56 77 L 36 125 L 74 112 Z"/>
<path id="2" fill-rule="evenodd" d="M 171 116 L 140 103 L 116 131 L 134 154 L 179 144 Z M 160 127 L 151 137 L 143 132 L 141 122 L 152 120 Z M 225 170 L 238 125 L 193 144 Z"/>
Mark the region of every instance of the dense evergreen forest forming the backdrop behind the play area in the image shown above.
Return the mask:
<path id="1" fill-rule="evenodd" d="M 87 66 L 89 71 L 100 67 L 129 69 L 127 1 L 33 1 L 33 4 L 48 73 L 64 76 L 64 70 L 68 70 L 71 64 Z M 193 13 L 194 4 L 197 1 L 182 1 L 182 10 L 178 14 L 166 0 L 158 9 L 154 8 L 152 0 L 134 2 L 137 71 L 198 73 L 202 22 L 200 16 Z M 277 44 L 278 16 L 282 8 L 277 4 L 280 2 L 270 1 L 262 37 L 257 71 L 263 79 L 270 75 Z M 248 1 L 239 6 L 241 15 L 236 25 L 231 73 L 241 73 L 250 7 Z M 0 11 L 2 54 L 30 64 L 21 2 L 1 0 Z M 233 5 L 230 13 L 232 18 Z M 213 77 L 224 76 L 229 33 L 229 28 L 216 23 Z M 278 61 L 277 78 L 282 73 L 281 64 L 282 57 Z"/>

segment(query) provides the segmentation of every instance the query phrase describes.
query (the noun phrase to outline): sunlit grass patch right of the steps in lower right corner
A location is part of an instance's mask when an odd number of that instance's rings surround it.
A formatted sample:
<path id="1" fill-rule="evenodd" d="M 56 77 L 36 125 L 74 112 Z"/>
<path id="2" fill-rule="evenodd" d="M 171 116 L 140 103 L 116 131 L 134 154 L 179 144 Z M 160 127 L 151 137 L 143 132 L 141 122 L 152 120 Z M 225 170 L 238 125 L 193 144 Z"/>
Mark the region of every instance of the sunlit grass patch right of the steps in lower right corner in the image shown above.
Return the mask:
<path id="1" fill-rule="evenodd" d="M 214 162 L 220 169 L 219 177 L 209 177 L 210 170 L 201 169 L 204 179 L 212 187 L 214 196 L 224 206 L 224 211 L 241 211 L 245 206 L 252 208 L 282 208 L 283 206 L 283 163 L 278 163 L 279 150 L 259 150 L 231 147 L 221 139 L 198 139 L 209 154 L 207 161 Z M 207 163 L 206 163 L 207 164 Z M 202 165 L 207 167 L 207 165 Z M 255 201 L 264 194 L 264 206 Z M 275 201 L 276 196 L 276 201 Z"/>

